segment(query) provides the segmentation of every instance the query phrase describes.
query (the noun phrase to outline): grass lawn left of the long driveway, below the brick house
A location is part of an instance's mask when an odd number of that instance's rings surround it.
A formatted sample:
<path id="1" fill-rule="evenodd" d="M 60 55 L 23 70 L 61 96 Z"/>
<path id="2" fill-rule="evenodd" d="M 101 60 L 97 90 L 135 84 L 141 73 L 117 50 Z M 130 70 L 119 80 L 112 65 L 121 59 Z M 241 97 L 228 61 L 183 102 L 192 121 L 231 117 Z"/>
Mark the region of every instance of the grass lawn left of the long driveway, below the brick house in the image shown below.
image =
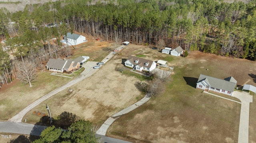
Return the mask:
<path id="1" fill-rule="evenodd" d="M 38 98 L 72 80 L 71 78 L 50 75 L 51 73 L 38 72 L 36 80 L 32 82 L 32 87 L 29 87 L 29 84 L 17 82 L 4 92 L 0 92 L 0 120 L 8 120 Z"/>

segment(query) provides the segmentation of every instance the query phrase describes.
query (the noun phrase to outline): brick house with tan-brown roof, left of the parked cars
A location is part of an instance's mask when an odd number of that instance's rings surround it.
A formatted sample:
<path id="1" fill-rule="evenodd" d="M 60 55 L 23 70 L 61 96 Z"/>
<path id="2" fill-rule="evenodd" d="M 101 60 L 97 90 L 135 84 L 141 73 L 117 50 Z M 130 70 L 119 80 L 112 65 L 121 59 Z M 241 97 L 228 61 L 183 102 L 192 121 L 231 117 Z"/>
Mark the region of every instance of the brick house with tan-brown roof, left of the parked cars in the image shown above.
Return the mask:
<path id="1" fill-rule="evenodd" d="M 71 72 L 80 68 L 79 62 L 62 60 L 62 59 L 49 59 L 46 64 L 49 71 L 55 72 Z"/>

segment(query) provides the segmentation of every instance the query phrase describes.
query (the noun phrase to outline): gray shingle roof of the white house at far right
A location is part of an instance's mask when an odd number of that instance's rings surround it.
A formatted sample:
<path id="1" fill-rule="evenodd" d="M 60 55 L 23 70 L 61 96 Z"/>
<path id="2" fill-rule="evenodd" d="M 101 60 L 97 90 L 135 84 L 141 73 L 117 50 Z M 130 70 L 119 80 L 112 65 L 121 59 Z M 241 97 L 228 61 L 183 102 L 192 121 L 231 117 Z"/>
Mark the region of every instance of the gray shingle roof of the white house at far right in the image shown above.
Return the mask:
<path id="1" fill-rule="evenodd" d="M 206 75 L 200 74 L 197 83 L 202 82 L 202 81 L 206 81 L 207 84 L 209 84 L 211 87 L 218 88 L 218 89 L 224 89 L 224 90 L 231 91 L 231 92 L 234 91 L 234 88 L 236 86 L 236 83 L 234 83 L 234 82 L 230 82 L 227 80 L 222 80 L 222 79 L 218 79 L 218 78 L 214 78 L 211 76 L 206 76 Z"/>

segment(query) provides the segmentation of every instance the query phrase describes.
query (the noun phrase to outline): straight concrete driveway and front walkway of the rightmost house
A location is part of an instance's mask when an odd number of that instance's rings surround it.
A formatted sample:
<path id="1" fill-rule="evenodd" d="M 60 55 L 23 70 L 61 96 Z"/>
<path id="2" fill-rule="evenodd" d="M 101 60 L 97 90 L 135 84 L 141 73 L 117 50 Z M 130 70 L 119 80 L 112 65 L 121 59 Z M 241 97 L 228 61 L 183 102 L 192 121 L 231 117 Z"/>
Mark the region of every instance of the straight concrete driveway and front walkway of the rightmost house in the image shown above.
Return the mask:
<path id="1" fill-rule="evenodd" d="M 204 93 L 211 94 L 205 91 Z M 214 95 L 214 94 L 211 94 L 211 95 Z M 217 95 L 214 95 L 214 96 L 217 96 Z M 218 97 L 241 104 L 238 143 L 249 143 L 249 110 L 250 110 L 250 103 L 252 102 L 252 96 L 239 91 L 234 91 L 232 96 L 235 98 L 238 98 L 241 102 L 237 102 L 235 100 L 231 100 L 221 96 L 218 96 Z"/>

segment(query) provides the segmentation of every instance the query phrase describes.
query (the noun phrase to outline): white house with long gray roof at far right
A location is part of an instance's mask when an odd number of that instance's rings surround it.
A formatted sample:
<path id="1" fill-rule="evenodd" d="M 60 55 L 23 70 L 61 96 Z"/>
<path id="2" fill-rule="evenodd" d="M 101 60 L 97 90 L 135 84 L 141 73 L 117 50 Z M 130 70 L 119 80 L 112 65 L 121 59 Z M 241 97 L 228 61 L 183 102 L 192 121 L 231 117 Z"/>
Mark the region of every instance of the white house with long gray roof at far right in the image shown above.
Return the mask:
<path id="1" fill-rule="evenodd" d="M 225 78 L 224 80 L 200 74 L 196 82 L 196 88 L 202 90 L 214 91 L 232 96 L 237 81 L 232 77 Z"/>

